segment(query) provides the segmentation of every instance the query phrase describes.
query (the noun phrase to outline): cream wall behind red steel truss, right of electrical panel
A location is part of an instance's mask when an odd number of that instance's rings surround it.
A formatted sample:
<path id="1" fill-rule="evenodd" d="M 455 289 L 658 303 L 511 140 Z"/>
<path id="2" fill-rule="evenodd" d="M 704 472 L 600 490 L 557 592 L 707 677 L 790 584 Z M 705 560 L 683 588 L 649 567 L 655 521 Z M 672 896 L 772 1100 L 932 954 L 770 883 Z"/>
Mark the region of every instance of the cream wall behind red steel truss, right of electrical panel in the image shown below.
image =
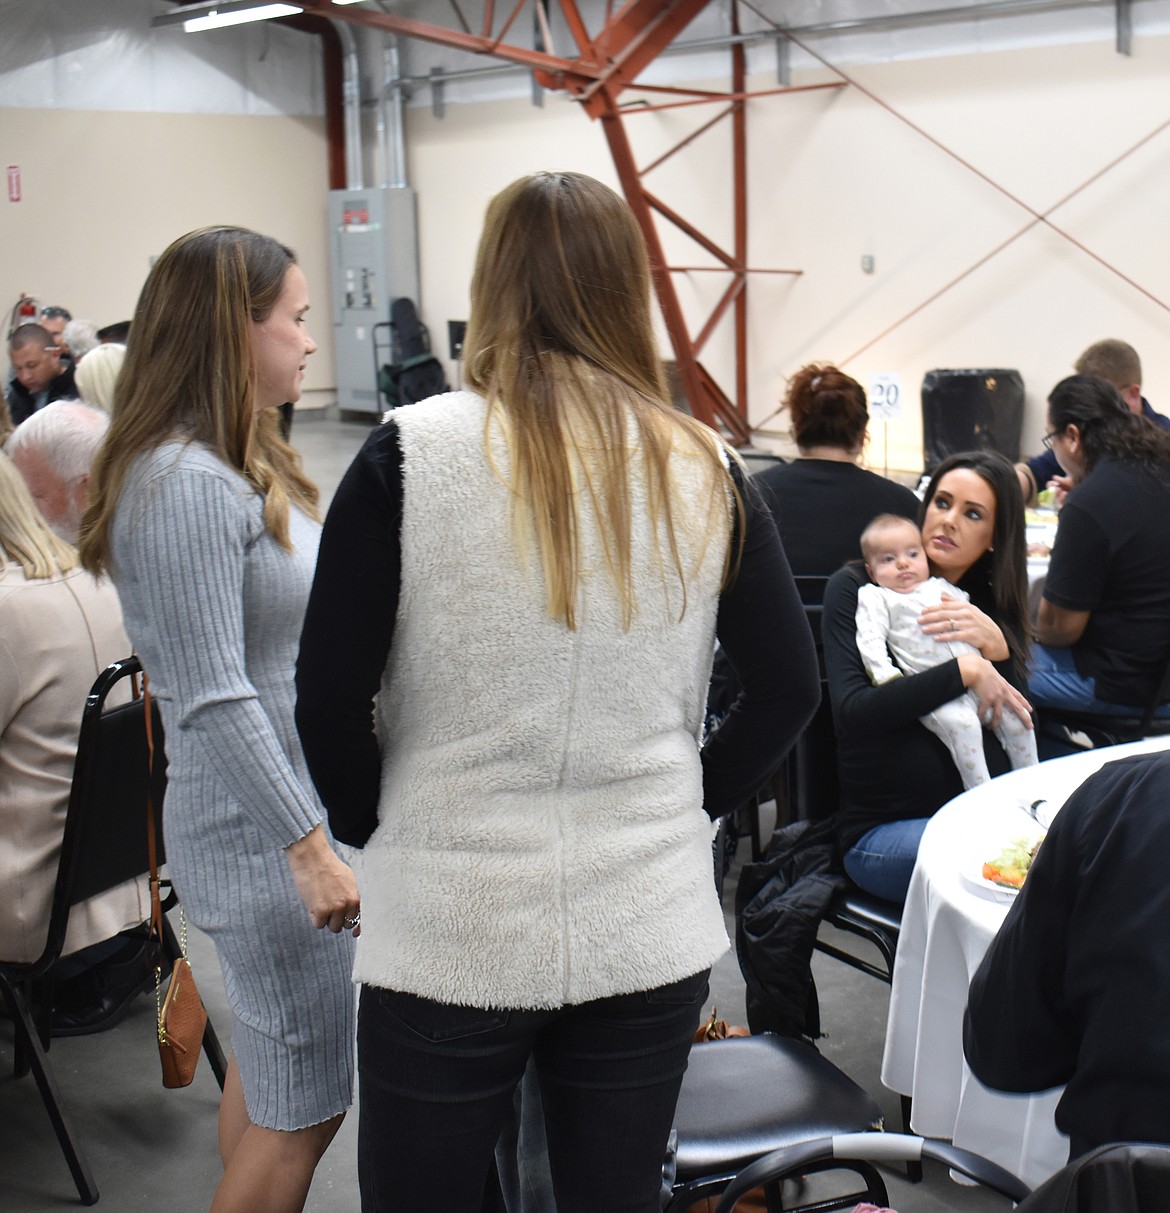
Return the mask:
<path id="1" fill-rule="evenodd" d="M 827 46 L 832 53 L 831 46 Z M 1132 57 L 1111 44 L 868 64 L 857 79 L 1010 193 L 1044 211 L 1170 118 L 1170 39 L 1142 38 Z M 822 70 L 794 82 L 828 79 Z M 755 87 L 774 87 L 761 78 Z M 710 116 L 706 107 L 633 118 L 640 163 Z M 433 331 L 467 314 L 467 279 L 484 206 L 501 186 L 541 167 L 613 182 L 598 124 L 549 97 L 409 112 L 411 183 L 418 190 L 423 314 Z M 700 227 L 730 243 L 726 135 L 710 131 L 647 182 Z M 1118 336 L 1142 354 L 1147 395 L 1170 412 L 1170 315 L 1044 226 L 1035 226 L 921 314 L 864 353 L 890 324 L 1031 221 L 954 159 L 855 89 L 752 102 L 750 258 L 800 278 L 750 285 L 750 416 L 775 409 L 786 376 L 810 359 L 844 361 L 868 386 L 901 374 L 908 395 L 871 462 L 921 467 L 918 389 L 942 366 L 1010 366 L 1025 378 L 1025 445 L 1038 449 L 1044 397 L 1091 341 Z M 1170 131 L 1152 139 L 1052 215 L 1106 261 L 1170 300 Z M 709 261 L 684 238 L 668 257 Z M 875 258 L 864 274 L 861 257 Z M 719 275 L 679 281 L 695 329 L 720 294 Z M 443 346 L 445 341 L 438 342 Z M 726 340 L 704 359 L 730 381 Z M 774 422 L 774 426 L 783 426 Z"/>

